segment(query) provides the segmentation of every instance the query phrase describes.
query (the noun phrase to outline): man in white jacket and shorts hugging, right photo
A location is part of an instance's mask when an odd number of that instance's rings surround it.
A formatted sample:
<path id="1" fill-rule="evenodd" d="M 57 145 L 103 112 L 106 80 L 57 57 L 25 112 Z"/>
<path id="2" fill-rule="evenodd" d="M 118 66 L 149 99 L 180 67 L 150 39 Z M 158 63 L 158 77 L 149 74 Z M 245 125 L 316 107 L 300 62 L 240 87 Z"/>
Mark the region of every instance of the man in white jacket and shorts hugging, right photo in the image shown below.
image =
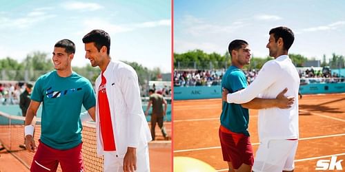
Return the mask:
<path id="1" fill-rule="evenodd" d="M 255 97 L 275 98 L 284 88 L 286 96 L 295 97 L 289 109 L 277 107 L 259 110 L 258 134 L 260 146 L 254 159 L 253 171 L 293 171 L 298 144 L 299 74 L 288 57 L 288 49 L 295 36 L 286 27 L 269 32 L 268 50 L 275 59 L 264 64 L 259 74 L 246 89 L 233 94 L 223 93 L 228 103 L 247 103 Z"/>

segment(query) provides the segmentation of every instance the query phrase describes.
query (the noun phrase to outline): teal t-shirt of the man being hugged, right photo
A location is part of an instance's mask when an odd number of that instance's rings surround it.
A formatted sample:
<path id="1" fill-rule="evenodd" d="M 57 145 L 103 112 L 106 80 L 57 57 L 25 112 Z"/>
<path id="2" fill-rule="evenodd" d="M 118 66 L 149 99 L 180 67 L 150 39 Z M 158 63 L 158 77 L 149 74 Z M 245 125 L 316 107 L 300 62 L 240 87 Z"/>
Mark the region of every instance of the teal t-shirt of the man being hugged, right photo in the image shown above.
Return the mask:
<path id="1" fill-rule="evenodd" d="M 221 78 L 221 87 L 228 89 L 230 93 L 244 89 L 247 87 L 246 75 L 242 69 L 230 66 L 223 78 Z M 223 102 L 220 122 L 223 127 L 230 131 L 244 133 L 246 136 L 249 136 L 249 112 L 248 109 L 241 105 Z"/>

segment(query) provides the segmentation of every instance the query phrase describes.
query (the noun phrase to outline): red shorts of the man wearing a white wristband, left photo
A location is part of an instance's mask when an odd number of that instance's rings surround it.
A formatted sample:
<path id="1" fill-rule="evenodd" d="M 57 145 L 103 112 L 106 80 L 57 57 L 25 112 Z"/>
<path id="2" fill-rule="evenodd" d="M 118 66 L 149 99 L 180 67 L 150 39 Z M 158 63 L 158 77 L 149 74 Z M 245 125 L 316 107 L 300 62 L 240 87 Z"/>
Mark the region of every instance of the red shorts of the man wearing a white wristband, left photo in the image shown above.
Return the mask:
<path id="1" fill-rule="evenodd" d="M 72 149 L 59 150 L 48 147 L 39 140 L 30 171 L 57 171 L 59 162 L 63 172 L 84 171 L 81 145 L 82 143 Z"/>

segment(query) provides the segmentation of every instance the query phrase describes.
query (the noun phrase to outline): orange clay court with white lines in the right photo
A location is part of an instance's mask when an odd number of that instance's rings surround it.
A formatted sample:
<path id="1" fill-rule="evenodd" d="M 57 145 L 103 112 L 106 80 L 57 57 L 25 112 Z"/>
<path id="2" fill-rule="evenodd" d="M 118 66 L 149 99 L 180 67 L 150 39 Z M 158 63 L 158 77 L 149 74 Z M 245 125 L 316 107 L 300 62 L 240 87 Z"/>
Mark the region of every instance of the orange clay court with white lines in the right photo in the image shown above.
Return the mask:
<path id="1" fill-rule="evenodd" d="M 174 156 L 202 160 L 228 171 L 218 138 L 221 99 L 174 101 Z M 250 140 L 257 151 L 257 110 L 250 110 Z M 345 94 L 299 99 L 299 145 L 295 171 L 315 171 L 317 160 L 345 160 Z M 175 164 L 176 165 L 176 164 Z M 345 162 L 342 162 L 345 168 Z"/>

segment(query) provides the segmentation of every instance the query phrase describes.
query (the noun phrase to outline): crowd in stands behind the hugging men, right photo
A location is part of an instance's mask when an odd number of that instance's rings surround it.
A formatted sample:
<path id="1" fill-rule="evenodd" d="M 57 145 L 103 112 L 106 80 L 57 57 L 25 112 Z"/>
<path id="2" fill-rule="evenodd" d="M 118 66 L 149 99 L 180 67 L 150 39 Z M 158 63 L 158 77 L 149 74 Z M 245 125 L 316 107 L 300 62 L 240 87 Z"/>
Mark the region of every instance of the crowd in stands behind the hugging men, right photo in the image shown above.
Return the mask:
<path id="1" fill-rule="evenodd" d="M 174 86 L 175 87 L 193 87 L 193 86 L 211 86 L 221 85 L 221 77 L 225 74 L 226 69 L 215 70 L 175 70 Z M 244 70 L 248 83 L 252 83 L 259 70 Z M 300 78 L 319 78 L 317 83 L 336 83 L 343 82 L 344 78 L 333 72 L 331 69 L 314 70 L 313 67 L 306 70 L 299 70 Z M 344 77 L 344 76 L 342 76 Z"/>

